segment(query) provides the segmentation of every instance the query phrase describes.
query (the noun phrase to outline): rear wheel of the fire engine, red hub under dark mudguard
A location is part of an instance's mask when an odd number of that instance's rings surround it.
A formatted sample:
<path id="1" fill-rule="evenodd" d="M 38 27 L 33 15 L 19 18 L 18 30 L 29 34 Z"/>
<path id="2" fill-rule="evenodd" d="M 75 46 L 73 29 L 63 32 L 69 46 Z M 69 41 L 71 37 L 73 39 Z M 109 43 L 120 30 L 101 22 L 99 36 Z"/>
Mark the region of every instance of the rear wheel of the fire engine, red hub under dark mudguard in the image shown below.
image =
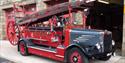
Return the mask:
<path id="1" fill-rule="evenodd" d="M 28 56 L 29 55 L 28 54 L 28 48 L 27 48 L 26 43 L 24 41 L 21 41 L 19 43 L 19 52 L 23 56 Z"/>

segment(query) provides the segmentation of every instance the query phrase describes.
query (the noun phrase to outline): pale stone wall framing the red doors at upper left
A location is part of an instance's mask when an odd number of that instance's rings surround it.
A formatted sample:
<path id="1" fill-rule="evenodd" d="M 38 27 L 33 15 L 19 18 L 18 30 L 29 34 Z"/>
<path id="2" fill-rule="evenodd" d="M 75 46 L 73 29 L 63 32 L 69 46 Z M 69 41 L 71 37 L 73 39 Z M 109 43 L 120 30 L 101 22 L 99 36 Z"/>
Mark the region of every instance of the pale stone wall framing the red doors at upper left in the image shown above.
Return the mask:
<path id="1" fill-rule="evenodd" d="M 36 8 L 38 10 L 46 9 L 47 6 L 43 2 L 44 0 L 0 0 L 0 40 L 6 38 L 6 21 L 4 16 L 4 11 L 2 9 L 10 8 L 13 6 L 13 2 L 20 2 L 25 4 L 36 3 Z"/>

